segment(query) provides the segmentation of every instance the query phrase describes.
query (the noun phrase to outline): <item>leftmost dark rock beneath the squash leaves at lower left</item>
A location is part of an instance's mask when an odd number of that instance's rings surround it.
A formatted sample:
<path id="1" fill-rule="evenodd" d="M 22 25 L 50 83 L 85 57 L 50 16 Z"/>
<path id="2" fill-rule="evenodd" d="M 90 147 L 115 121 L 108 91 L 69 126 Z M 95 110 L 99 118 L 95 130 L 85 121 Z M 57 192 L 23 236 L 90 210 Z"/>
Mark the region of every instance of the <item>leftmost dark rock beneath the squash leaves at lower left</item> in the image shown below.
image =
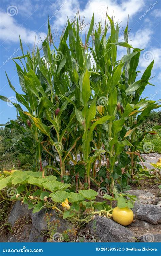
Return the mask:
<path id="1" fill-rule="evenodd" d="M 19 219 L 21 216 L 29 216 L 31 210 L 28 210 L 28 206 L 25 204 L 21 205 L 21 201 L 17 201 L 14 206 L 12 207 L 12 210 L 8 216 L 8 223 L 11 224 L 13 227 L 15 222 Z"/>

